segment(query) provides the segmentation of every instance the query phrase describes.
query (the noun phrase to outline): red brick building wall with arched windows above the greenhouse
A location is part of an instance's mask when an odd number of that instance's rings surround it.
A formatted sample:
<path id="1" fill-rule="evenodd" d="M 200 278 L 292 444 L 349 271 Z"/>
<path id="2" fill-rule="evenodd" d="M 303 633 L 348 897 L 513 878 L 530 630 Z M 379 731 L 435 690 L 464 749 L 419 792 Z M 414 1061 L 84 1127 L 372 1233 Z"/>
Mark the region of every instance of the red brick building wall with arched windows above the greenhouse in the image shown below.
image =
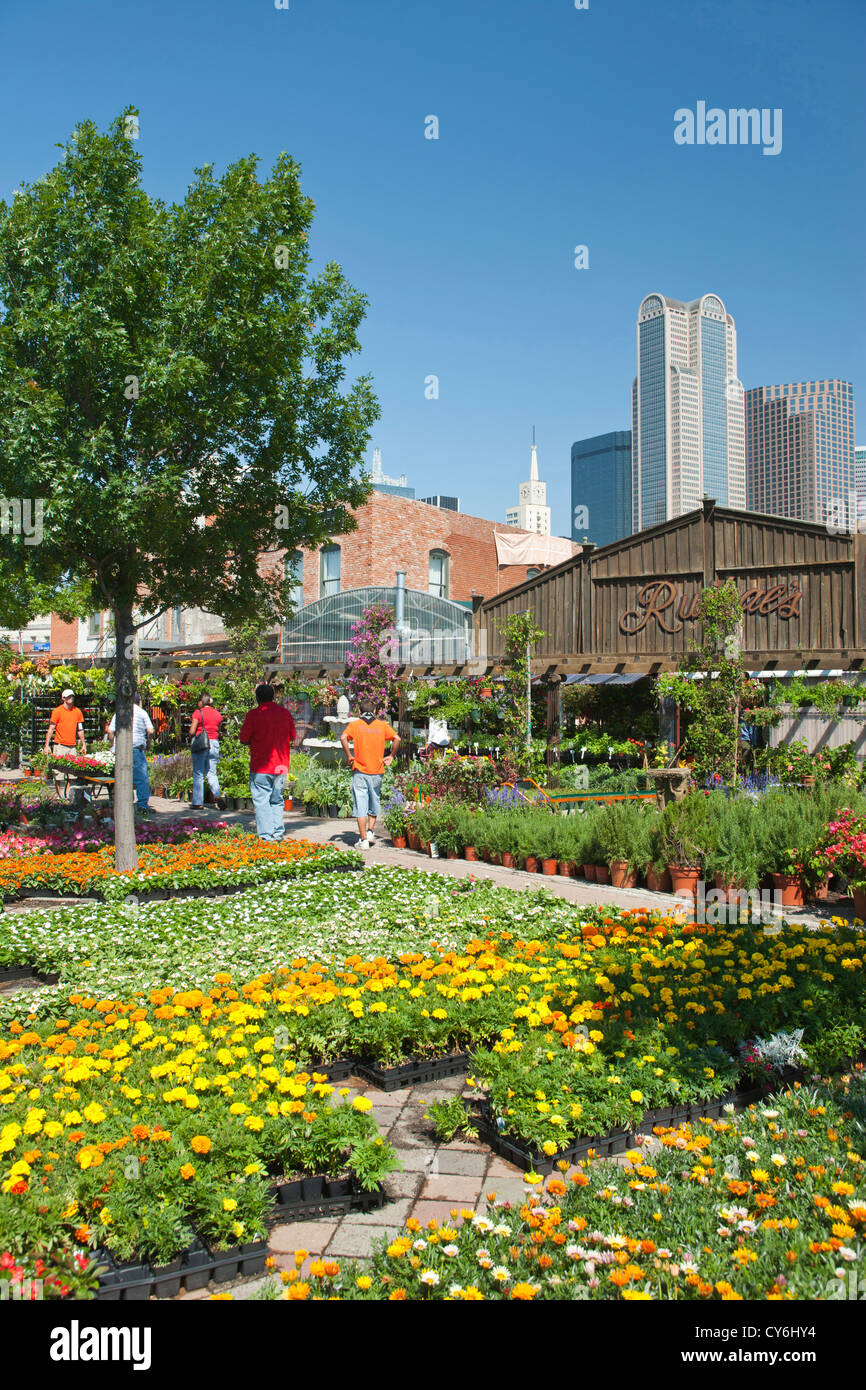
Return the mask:
<path id="1" fill-rule="evenodd" d="M 406 588 L 427 594 L 430 588 L 430 552 L 448 555 L 448 598 L 470 600 L 473 594 L 491 598 L 513 584 L 523 584 L 527 567 L 496 564 L 495 531 L 528 535 L 505 521 L 487 521 L 446 512 L 441 507 L 374 492 L 354 513 L 357 531 L 334 538 L 341 548 L 341 589 L 367 585 L 393 587 L 398 570 L 406 571 Z M 303 550 L 304 605 L 321 598 L 321 553 Z"/>

